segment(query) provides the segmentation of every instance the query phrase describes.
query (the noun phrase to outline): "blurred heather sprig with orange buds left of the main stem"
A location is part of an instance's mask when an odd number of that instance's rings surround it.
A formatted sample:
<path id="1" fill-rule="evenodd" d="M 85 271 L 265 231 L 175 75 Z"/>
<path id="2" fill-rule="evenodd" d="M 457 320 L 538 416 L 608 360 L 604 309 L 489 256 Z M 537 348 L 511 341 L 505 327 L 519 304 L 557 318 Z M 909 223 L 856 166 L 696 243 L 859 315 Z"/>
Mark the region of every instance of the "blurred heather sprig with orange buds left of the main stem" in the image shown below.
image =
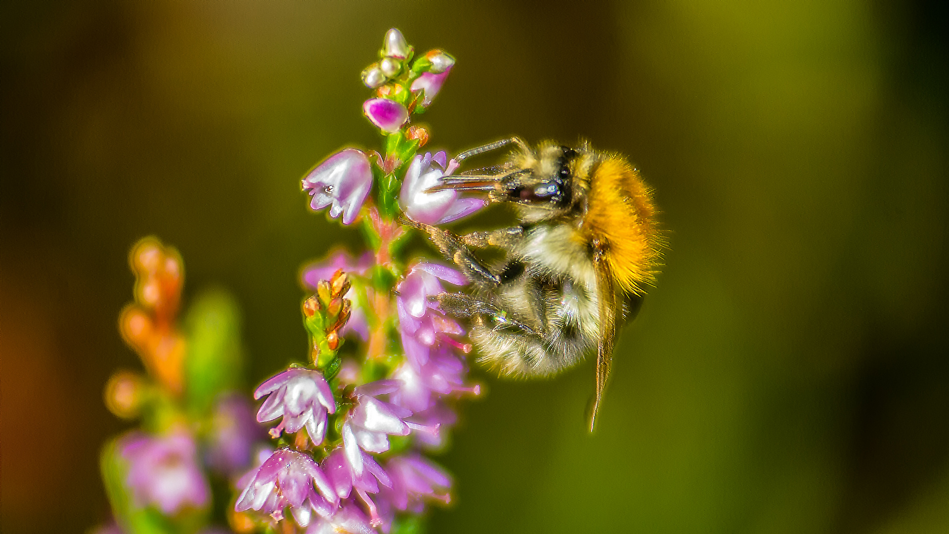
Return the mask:
<path id="1" fill-rule="evenodd" d="M 102 449 L 115 524 L 100 531 L 217 531 L 208 524 L 212 481 L 251 467 L 266 436 L 250 399 L 236 392 L 236 308 L 226 294 L 205 293 L 180 324 L 184 269 L 177 251 L 144 238 L 130 263 L 138 283 L 120 329 L 147 374 L 115 372 L 105 386 L 109 410 L 141 421 Z"/>

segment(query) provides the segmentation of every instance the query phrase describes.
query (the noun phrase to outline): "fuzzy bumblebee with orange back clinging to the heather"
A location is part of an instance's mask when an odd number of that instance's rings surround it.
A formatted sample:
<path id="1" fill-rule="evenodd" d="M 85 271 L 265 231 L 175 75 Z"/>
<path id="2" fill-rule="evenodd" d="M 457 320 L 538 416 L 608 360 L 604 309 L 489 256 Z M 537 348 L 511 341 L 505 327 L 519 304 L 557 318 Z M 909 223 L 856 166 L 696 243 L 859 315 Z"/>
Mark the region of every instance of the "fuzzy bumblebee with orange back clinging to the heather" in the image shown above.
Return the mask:
<path id="1" fill-rule="evenodd" d="M 445 177 L 429 192 L 479 191 L 510 204 L 519 224 L 462 236 L 406 221 L 472 281 L 471 294 L 437 296 L 442 311 L 471 321 L 478 361 L 500 374 L 550 376 L 597 353 L 593 429 L 612 361 L 617 322 L 639 310 L 656 276 L 661 238 L 650 189 L 637 169 L 586 143 L 518 138 L 456 157 L 515 145 L 500 165 Z M 496 247 L 491 264 L 472 249 Z"/>

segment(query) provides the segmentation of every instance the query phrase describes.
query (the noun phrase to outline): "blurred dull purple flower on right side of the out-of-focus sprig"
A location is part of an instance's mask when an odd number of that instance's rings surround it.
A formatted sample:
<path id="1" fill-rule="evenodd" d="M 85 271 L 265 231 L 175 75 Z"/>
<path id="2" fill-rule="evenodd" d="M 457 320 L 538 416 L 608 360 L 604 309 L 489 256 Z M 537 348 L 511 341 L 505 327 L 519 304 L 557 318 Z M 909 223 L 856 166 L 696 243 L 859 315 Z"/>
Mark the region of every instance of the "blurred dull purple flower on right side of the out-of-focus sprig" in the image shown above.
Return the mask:
<path id="1" fill-rule="evenodd" d="M 237 394 L 222 397 L 214 407 L 208 465 L 224 474 L 248 467 L 254 443 L 265 435 L 253 419 L 253 407 L 247 398 Z"/>

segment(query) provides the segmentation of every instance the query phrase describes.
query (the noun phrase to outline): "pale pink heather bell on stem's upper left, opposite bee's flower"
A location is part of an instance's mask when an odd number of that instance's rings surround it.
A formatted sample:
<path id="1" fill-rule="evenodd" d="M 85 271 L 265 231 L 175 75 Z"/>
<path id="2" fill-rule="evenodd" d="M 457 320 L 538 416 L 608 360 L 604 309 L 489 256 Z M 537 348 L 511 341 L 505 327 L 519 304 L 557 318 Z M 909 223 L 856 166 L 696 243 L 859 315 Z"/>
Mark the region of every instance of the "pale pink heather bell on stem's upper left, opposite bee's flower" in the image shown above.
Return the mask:
<path id="1" fill-rule="evenodd" d="M 343 214 L 343 223 L 351 224 L 372 188 L 372 167 L 362 151 L 346 148 L 316 165 L 303 179 L 303 190 L 313 200 L 310 207 L 321 210 L 331 204 L 329 217 Z"/>

